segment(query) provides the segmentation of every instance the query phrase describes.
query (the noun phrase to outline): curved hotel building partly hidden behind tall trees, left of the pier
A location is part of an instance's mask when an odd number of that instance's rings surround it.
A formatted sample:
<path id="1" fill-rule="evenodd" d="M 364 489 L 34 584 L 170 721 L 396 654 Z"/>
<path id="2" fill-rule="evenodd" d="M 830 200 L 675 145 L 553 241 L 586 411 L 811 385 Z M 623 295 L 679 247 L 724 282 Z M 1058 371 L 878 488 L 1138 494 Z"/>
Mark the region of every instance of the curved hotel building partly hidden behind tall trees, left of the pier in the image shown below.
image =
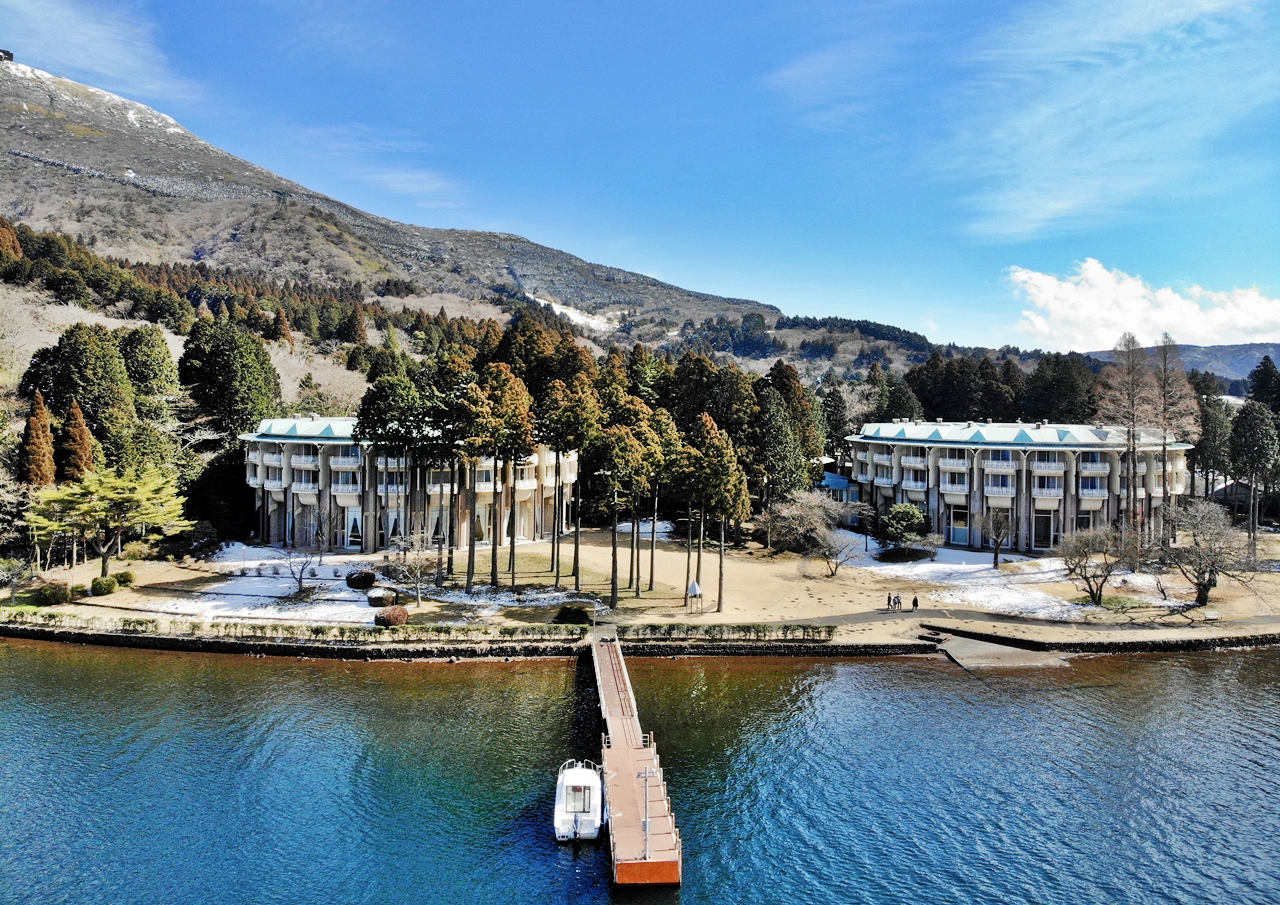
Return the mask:
<path id="1" fill-rule="evenodd" d="M 255 492 L 257 536 L 285 547 L 372 553 L 401 534 L 425 530 L 463 547 L 468 531 L 490 541 L 495 494 L 502 504 L 499 544 L 511 520 L 516 538 L 550 536 L 556 512 L 556 454 L 545 448 L 516 462 L 513 480 L 476 465 L 476 506 L 463 467 L 428 467 L 353 439 L 353 417 L 266 419 L 244 442 L 244 479 Z M 508 472 L 509 476 L 509 472 Z M 577 453 L 561 454 L 563 517 L 568 524 Z M 328 534 L 328 541 L 324 539 Z"/>

